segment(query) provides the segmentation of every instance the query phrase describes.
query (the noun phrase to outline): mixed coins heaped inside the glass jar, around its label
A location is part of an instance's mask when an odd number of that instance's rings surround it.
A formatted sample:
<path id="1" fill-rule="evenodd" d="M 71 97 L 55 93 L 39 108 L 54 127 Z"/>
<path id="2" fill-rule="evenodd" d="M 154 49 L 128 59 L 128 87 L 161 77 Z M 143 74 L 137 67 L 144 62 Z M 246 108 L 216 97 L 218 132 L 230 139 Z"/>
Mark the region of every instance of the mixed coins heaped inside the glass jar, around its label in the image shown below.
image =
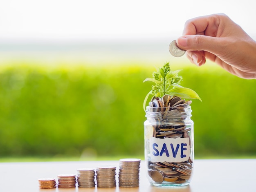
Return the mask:
<path id="1" fill-rule="evenodd" d="M 150 112 L 158 112 L 155 118 L 155 125 L 149 127 L 148 137 L 156 138 L 190 138 L 190 126 L 186 126 L 186 108 L 192 103 L 191 100 L 184 100 L 177 96 L 164 95 L 163 98 L 153 98 L 149 106 Z M 173 120 L 170 123 L 169 119 Z M 163 181 L 184 183 L 191 177 L 193 161 L 181 163 L 175 162 L 151 162 L 148 161 L 148 175 L 157 183 Z"/>

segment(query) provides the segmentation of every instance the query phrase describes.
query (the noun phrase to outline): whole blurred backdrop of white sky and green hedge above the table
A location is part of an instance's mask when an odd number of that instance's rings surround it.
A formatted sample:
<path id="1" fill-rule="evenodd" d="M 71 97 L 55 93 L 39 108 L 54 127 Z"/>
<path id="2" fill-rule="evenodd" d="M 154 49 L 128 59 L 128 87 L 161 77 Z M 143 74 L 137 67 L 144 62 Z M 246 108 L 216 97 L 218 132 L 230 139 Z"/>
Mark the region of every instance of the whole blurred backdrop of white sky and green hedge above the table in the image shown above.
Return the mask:
<path id="1" fill-rule="evenodd" d="M 256 157 L 256 80 L 174 58 L 186 20 L 226 13 L 252 38 L 249 0 L 9 0 L 0 7 L 0 161 L 144 158 L 142 107 L 164 63 L 195 90 L 195 158 Z"/>

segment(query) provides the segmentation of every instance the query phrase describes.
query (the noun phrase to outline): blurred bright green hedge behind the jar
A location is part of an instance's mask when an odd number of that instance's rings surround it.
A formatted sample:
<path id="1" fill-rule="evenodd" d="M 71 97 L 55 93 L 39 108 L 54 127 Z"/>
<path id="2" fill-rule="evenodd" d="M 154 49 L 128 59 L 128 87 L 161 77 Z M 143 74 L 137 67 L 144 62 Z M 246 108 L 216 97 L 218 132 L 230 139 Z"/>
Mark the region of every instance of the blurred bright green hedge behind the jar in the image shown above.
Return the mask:
<path id="1" fill-rule="evenodd" d="M 163 63 L 164 64 L 164 63 Z M 171 65 L 172 67 L 172 65 Z M 195 157 L 256 154 L 256 80 L 180 67 L 193 100 Z M 0 156 L 144 154 L 142 107 L 154 67 L 10 66 L 0 70 Z"/>

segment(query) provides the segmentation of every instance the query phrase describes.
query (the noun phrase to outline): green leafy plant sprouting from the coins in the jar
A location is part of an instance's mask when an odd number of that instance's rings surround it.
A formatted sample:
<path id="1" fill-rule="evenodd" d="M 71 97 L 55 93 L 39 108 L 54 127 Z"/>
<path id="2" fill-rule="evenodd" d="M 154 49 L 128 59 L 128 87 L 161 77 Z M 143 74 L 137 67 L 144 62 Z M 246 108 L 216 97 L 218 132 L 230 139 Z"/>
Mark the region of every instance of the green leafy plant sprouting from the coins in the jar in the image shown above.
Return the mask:
<path id="1" fill-rule="evenodd" d="M 143 81 L 143 83 L 145 81 L 155 83 L 155 85 L 152 85 L 152 90 L 144 99 L 144 109 L 150 95 L 153 95 L 154 97 L 162 97 L 165 94 L 170 94 L 181 98 L 196 98 L 202 101 L 195 91 L 180 85 L 182 80 L 182 76 L 178 75 L 180 71 L 181 70 L 172 71 L 169 63 L 167 62 L 163 67 L 159 68 L 158 71 L 153 72 L 153 78 L 146 78 Z"/>

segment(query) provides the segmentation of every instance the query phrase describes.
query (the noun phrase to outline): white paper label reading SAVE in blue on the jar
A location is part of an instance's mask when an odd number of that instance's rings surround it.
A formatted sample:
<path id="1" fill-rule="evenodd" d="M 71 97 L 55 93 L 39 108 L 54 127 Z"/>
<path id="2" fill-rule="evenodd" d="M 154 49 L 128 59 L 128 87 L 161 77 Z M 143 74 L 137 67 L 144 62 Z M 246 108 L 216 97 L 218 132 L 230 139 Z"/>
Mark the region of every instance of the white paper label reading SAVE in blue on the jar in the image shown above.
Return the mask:
<path id="1" fill-rule="evenodd" d="M 183 162 L 189 160 L 189 138 L 150 138 L 152 162 Z"/>

